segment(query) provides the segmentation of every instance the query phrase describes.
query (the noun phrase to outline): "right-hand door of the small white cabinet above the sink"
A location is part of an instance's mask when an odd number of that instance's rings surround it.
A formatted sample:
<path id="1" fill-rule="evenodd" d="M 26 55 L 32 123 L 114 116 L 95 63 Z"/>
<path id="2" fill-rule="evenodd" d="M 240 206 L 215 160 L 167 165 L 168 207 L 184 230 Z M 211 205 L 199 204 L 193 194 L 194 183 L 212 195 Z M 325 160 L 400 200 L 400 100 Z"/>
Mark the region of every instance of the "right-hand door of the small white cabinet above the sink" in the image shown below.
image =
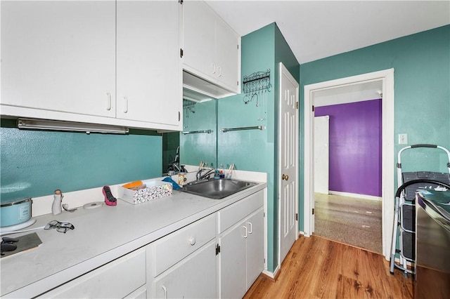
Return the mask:
<path id="1" fill-rule="evenodd" d="M 221 86 L 240 93 L 240 37 L 217 18 L 216 20 L 216 64 L 217 79 Z"/>

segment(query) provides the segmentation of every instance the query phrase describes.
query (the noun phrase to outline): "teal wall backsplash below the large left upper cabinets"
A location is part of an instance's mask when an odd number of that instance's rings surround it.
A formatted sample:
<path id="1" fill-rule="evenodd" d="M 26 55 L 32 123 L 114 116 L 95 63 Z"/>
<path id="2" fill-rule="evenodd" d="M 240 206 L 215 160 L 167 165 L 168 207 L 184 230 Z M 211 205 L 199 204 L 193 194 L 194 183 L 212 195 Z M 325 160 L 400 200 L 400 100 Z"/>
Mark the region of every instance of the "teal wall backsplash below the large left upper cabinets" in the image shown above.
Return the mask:
<path id="1" fill-rule="evenodd" d="M 41 197 L 161 175 L 161 136 L 0 128 L 1 200 Z M 134 133 L 133 133 L 134 132 Z"/>

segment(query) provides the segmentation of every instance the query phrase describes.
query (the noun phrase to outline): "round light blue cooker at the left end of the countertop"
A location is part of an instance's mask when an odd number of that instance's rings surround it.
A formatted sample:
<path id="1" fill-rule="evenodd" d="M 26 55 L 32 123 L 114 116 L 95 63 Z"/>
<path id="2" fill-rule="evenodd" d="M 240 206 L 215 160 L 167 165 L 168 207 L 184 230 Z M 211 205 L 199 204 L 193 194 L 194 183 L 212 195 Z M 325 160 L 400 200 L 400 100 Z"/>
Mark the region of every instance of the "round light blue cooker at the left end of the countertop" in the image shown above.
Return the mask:
<path id="1" fill-rule="evenodd" d="M 0 227 L 26 227 L 31 220 L 31 198 L 10 199 L 1 201 Z M 26 226 L 23 226 L 26 225 Z"/>

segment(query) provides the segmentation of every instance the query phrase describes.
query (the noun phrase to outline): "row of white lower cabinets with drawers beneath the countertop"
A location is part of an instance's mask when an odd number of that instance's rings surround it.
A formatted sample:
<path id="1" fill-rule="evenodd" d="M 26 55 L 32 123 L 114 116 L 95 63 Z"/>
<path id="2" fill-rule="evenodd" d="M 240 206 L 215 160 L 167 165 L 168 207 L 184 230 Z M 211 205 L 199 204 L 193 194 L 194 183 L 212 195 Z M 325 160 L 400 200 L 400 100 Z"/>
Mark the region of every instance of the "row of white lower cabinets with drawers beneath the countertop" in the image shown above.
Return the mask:
<path id="1" fill-rule="evenodd" d="M 39 298 L 241 298 L 264 269 L 264 190 Z"/>

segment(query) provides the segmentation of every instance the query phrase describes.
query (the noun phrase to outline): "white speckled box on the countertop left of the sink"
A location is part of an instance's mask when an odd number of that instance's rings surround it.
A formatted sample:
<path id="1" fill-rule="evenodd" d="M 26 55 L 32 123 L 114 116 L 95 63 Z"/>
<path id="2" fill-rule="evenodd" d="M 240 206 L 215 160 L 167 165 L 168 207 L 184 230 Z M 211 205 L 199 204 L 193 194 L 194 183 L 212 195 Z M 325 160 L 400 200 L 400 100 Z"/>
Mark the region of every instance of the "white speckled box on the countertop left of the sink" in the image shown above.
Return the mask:
<path id="1" fill-rule="evenodd" d="M 168 197 L 172 195 L 172 184 L 170 182 L 162 182 L 160 180 L 144 180 L 146 188 L 139 190 L 129 190 L 124 187 L 118 188 L 118 197 L 130 204 L 141 204 L 160 197 Z"/>

